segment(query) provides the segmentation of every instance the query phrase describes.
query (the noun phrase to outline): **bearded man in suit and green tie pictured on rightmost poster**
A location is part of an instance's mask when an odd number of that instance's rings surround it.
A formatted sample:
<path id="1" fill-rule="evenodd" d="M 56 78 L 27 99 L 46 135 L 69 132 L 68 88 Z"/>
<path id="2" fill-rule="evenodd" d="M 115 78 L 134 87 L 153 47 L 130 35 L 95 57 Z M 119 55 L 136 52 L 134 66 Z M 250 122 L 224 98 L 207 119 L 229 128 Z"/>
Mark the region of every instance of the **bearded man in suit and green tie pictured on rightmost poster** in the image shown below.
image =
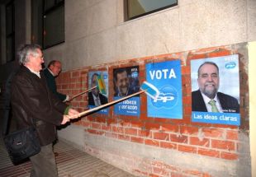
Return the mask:
<path id="1" fill-rule="evenodd" d="M 216 63 L 205 62 L 198 68 L 198 91 L 192 91 L 192 111 L 239 113 L 234 97 L 218 92 L 219 68 Z"/>

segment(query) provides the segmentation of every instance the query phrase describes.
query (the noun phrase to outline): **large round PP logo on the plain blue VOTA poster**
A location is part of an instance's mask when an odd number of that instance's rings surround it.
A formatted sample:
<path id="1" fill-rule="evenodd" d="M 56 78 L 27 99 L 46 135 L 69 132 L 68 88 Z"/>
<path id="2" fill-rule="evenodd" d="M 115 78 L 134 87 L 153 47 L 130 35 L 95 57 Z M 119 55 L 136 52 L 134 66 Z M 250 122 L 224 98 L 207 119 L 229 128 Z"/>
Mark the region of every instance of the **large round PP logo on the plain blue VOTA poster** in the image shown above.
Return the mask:
<path id="1" fill-rule="evenodd" d="M 156 108 L 173 108 L 178 103 L 178 91 L 173 86 L 163 86 L 159 89 L 157 99 L 151 99 L 152 105 Z"/>

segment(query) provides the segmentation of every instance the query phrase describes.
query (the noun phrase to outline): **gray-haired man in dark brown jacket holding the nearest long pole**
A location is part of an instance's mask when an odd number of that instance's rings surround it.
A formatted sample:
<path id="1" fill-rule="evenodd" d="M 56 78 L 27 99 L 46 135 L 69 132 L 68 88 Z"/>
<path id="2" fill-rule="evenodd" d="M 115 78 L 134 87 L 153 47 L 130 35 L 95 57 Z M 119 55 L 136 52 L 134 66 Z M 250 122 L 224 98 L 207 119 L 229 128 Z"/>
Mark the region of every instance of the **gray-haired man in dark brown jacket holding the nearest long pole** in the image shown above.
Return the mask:
<path id="1" fill-rule="evenodd" d="M 69 122 L 78 111 L 69 108 L 49 90 L 41 71 L 44 56 L 37 44 L 25 44 L 18 51 L 21 68 L 11 85 L 12 118 L 17 128 L 33 126 L 39 137 L 41 151 L 31 156 L 31 176 L 58 176 L 52 142 L 56 125 Z"/>

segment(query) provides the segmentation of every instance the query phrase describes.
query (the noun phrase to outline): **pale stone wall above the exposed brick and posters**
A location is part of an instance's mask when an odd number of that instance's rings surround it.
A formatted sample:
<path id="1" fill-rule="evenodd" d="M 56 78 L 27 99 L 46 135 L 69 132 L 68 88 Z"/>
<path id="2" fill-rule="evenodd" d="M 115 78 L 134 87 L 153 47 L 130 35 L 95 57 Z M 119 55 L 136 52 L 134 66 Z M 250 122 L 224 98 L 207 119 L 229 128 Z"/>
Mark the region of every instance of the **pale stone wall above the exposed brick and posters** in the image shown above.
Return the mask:
<path id="1" fill-rule="evenodd" d="M 256 40 L 256 1 L 179 0 L 171 7 L 123 21 L 123 1 L 65 1 L 65 43 L 45 50 L 46 63 L 70 70 L 155 54 Z"/>

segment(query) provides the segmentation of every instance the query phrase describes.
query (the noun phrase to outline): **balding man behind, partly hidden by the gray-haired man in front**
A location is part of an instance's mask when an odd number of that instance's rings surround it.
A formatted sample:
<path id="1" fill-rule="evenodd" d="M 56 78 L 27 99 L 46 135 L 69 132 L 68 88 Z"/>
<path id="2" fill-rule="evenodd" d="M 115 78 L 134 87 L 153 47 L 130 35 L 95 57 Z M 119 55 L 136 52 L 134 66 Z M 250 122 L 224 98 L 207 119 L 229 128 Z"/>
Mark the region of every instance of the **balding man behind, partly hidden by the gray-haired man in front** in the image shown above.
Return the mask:
<path id="1" fill-rule="evenodd" d="M 57 86 L 55 82 L 55 77 L 58 77 L 59 72 L 61 71 L 61 63 L 58 60 L 52 60 L 48 64 L 48 68 L 44 69 L 45 78 L 47 81 L 47 85 L 56 96 L 58 96 L 59 100 L 69 101 L 71 97 L 69 95 L 64 95 L 57 91 Z"/>

